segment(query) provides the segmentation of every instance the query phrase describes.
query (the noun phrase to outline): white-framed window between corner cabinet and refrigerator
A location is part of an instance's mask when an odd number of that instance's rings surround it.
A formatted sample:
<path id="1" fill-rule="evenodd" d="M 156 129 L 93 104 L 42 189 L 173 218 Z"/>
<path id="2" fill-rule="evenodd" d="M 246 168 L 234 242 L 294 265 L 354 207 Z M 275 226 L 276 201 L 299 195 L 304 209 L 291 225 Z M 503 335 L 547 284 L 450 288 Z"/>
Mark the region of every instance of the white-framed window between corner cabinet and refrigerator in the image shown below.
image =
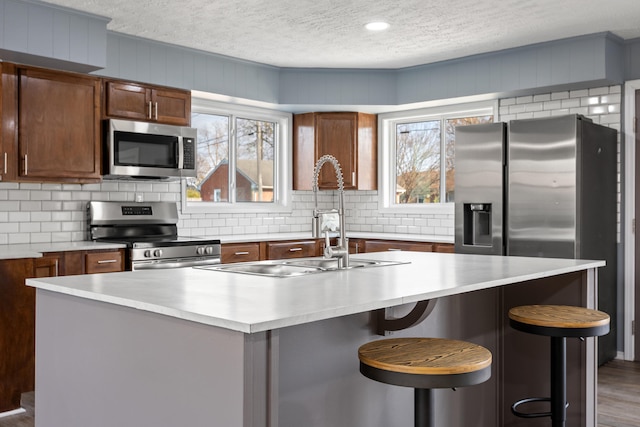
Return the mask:
<path id="1" fill-rule="evenodd" d="M 493 122 L 494 102 L 379 116 L 380 209 L 453 212 L 455 128 Z"/>

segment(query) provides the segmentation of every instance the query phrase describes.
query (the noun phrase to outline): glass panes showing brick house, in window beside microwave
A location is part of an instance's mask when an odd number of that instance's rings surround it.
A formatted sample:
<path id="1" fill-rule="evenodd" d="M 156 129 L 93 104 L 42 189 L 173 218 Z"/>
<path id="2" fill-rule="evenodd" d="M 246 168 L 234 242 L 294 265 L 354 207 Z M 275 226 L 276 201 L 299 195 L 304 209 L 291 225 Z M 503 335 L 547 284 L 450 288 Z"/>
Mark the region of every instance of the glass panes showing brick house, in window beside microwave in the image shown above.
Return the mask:
<path id="1" fill-rule="evenodd" d="M 276 124 L 193 112 L 198 129 L 197 176 L 187 201 L 273 202 Z"/>

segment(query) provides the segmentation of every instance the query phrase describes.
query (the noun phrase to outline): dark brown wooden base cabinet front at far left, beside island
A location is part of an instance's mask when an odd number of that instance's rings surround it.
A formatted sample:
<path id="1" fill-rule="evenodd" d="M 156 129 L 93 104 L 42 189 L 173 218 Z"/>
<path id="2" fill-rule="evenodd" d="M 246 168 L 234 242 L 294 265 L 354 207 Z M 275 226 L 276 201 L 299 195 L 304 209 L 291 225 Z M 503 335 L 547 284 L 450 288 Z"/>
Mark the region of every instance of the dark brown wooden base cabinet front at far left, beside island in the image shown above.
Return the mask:
<path id="1" fill-rule="evenodd" d="M 0 412 L 20 407 L 20 395 L 34 389 L 35 289 L 31 259 L 0 261 Z"/>

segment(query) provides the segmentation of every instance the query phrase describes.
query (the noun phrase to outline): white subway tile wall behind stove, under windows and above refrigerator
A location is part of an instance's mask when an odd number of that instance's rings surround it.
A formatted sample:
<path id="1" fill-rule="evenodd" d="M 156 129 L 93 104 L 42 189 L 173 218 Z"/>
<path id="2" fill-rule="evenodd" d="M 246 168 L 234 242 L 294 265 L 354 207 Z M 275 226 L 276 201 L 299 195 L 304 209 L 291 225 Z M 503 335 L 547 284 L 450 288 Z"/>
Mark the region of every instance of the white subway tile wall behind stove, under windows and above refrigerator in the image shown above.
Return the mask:
<path id="1" fill-rule="evenodd" d="M 620 86 L 540 93 L 501 99 L 499 120 L 575 113 L 619 131 L 621 103 Z M 82 185 L 0 182 L 0 244 L 84 240 L 85 207 L 89 200 L 134 201 L 136 194 L 141 194 L 145 201 L 176 202 L 180 206 L 178 182 L 105 181 Z M 319 193 L 319 204 L 323 208 L 337 206 L 336 192 Z M 345 209 L 347 229 L 354 232 L 447 237 L 454 234 L 453 215 L 381 213 L 377 191 L 348 191 Z M 312 211 L 313 193 L 294 191 L 291 214 L 181 214 L 178 226 L 186 236 L 307 232 L 311 230 Z"/>

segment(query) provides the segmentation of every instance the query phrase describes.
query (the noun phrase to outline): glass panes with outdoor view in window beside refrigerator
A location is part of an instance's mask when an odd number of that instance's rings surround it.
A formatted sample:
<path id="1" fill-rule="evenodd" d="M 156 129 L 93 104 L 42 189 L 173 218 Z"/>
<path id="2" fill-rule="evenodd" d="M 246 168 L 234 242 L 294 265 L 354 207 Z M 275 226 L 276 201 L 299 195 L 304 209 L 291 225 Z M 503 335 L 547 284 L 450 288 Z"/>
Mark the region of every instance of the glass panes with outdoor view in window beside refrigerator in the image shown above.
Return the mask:
<path id="1" fill-rule="evenodd" d="M 492 115 L 396 123 L 395 203 L 451 203 L 455 128 L 493 122 Z"/>

